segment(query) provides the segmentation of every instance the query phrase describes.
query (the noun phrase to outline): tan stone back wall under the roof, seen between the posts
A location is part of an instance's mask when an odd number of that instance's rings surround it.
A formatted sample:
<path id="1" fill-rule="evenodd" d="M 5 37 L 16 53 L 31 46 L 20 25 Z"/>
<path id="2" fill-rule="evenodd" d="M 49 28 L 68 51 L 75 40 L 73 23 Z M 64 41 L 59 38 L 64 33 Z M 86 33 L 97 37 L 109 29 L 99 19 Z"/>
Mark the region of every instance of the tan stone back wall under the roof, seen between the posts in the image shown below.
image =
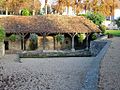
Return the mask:
<path id="1" fill-rule="evenodd" d="M 29 50 L 29 39 L 26 40 L 25 47 Z M 53 36 L 46 36 L 45 50 L 54 50 L 54 43 L 56 50 L 70 50 L 71 49 L 71 38 L 65 37 L 64 42 L 60 43 L 55 40 Z M 11 42 L 9 41 L 10 50 L 21 50 L 21 41 Z M 38 36 L 38 50 L 43 50 L 43 36 Z"/>

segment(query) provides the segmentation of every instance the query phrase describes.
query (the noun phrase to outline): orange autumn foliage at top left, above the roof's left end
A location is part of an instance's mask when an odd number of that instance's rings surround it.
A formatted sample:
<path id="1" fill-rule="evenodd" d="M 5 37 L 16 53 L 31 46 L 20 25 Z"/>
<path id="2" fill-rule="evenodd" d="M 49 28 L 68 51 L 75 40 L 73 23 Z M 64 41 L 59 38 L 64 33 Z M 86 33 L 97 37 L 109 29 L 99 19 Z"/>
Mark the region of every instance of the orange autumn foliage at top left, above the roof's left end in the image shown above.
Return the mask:
<path id="1" fill-rule="evenodd" d="M 27 8 L 29 10 L 38 10 L 40 9 L 39 0 L 2 0 L 0 2 L 0 7 L 8 11 L 11 11 L 13 14 L 18 14 L 19 10 Z"/>

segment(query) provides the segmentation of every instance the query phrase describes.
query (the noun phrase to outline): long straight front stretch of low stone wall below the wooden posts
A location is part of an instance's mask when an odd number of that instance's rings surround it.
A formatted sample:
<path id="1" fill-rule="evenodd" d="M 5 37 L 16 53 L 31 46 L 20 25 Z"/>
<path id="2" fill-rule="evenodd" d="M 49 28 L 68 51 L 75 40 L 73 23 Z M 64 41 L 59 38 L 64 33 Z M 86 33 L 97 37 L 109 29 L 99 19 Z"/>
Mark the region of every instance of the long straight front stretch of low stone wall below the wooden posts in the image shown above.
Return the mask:
<path id="1" fill-rule="evenodd" d="M 90 57 L 90 51 L 56 51 L 56 52 L 43 52 L 43 51 L 26 51 L 19 53 L 20 58 L 47 58 L 47 57 Z"/>

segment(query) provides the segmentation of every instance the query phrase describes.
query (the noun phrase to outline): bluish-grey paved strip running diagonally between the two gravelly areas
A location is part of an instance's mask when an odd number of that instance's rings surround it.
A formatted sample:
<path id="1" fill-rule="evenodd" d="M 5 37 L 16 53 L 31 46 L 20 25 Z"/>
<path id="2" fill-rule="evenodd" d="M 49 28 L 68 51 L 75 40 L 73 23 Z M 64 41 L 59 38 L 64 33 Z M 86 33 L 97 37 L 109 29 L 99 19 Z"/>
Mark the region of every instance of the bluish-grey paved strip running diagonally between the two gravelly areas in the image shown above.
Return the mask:
<path id="1" fill-rule="evenodd" d="M 89 68 L 85 76 L 83 88 L 81 90 L 98 90 L 100 63 L 111 44 L 111 41 L 108 40 L 104 40 L 103 42 L 107 43 L 103 47 L 103 49 L 99 52 L 99 54 L 95 57 L 95 59 L 92 61 L 91 67 Z"/>

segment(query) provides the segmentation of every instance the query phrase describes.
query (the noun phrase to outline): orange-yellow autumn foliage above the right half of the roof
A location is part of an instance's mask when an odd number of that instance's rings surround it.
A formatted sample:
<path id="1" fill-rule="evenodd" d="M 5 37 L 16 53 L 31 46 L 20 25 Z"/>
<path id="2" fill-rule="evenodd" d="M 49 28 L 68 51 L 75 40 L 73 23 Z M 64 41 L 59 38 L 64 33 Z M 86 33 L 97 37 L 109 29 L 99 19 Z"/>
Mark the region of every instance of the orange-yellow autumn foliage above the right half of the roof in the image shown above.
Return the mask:
<path id="1" fill-rule="evenodd" d="M 119 0 L 58 0 L 59 9 L 62 7 L 72 6 L 74 12 L 78 14 L 80 11 L 100 12 L 105 16 L 114 14 L 115 8 L 120 8 Z"/>

